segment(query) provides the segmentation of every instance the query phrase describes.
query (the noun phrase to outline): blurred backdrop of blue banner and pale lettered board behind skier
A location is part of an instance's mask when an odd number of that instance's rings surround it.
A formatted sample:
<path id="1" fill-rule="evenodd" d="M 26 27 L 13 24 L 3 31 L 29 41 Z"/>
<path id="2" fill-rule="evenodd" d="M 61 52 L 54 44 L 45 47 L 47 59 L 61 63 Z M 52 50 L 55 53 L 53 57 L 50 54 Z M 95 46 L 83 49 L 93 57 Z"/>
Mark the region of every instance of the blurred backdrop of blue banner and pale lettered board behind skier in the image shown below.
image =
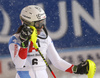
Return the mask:
<path id="1" fill-rule="evenodd" d="M 22 8 L 34 4 L 45 10 L 46 27 L 61 58 L 72 64 L 93 60 L 97 65 L 94 78 L 100 78 L 100 0 L 0 0 L 0 78 L 15 78 L 8 41 L 21 25 Z M 48 63 L 57 78 L 87 78 Z"/>

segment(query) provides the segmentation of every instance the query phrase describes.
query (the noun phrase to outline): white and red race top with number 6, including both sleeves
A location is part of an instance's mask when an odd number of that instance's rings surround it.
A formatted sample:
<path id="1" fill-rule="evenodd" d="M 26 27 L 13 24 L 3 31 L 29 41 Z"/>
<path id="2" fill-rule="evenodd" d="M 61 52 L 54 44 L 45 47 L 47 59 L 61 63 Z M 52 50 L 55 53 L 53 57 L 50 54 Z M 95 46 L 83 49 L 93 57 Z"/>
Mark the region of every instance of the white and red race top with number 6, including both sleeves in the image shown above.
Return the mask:
<path id="1" fill-rule="evenodd" d="M 20 47 L 20 44 L 19 34 L 14 34 L 9 40 L 9 51 L 17 71 L 26 71 L 29 68 L 32 68 L 33 70 L 46 69 L 45 62 L 38 51 L 35 50 L 32 42 L 29 42 L 27 48 Z M 37 45 L 43 56 L 45 58 L 47 56 L 56 68 L 73 73 L 73 65 L 66 62 L 58 55 L 49 36 L 46 39 L 38 38 Z"/>

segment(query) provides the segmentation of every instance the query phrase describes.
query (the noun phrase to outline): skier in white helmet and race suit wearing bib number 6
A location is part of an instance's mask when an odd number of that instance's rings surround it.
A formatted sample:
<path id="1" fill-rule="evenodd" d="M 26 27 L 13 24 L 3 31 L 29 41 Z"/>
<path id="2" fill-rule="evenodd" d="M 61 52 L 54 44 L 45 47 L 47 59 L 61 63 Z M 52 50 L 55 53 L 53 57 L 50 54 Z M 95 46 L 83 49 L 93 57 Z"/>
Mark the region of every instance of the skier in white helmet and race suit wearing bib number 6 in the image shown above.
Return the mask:
<path id="1" fill-rule="evenodd" d="M 75 74 L 88 73 L 87 61 L 73 65 L 58 55 L 45 28 L 46 14 L 41 7 L 29 5 L 23 8 L 20 19 L 22 25 L 9 40 L 9 51 L 17 70 L 16 78 L 48 78 L 46 64 L 35 49 L 35 43 L 44 58 L 47 56 L 59 70 Z"/>

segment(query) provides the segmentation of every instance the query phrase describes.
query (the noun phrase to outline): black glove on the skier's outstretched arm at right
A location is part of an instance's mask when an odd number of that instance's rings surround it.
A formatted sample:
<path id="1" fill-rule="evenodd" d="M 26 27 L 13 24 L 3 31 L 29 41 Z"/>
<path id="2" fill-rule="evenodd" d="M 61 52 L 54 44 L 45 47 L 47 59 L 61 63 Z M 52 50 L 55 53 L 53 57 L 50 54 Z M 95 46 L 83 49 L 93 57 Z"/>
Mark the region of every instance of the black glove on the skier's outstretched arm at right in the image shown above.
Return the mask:
<path id="1" fill-rule="evenodd" d="M 73 66 L 73 72 L 75 74 L 87 74 L 88 70 L 89 70 L 89 63 L 87 61 L 83 61 L 79 65 Z"/>

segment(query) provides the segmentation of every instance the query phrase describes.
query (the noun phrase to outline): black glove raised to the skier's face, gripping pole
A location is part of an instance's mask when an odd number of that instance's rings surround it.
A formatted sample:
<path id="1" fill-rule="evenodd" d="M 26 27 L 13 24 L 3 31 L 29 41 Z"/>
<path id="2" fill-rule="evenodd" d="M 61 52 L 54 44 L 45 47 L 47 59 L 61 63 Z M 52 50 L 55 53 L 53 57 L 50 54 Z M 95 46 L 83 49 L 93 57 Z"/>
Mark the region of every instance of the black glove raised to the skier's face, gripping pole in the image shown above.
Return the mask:
<path id="1" fill-rule="evenodd" d="M 29 39 L 31 38 L 32 29 L 29 26 L 24 26 L 20 32 L 19 38 L 21 41 L 21 47 L 28 47 Z"/>

